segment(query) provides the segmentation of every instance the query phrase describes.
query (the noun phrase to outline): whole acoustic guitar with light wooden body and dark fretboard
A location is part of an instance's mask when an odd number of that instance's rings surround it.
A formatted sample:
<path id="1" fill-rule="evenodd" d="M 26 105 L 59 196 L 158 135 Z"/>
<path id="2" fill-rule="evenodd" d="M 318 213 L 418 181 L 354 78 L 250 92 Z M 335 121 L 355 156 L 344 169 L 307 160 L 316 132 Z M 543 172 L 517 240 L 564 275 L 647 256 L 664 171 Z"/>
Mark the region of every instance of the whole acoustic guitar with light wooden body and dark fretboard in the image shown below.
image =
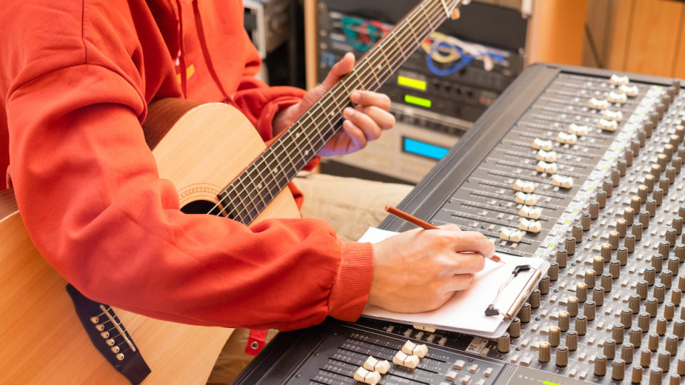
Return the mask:
<path id="1" fill-rule="evenodd" d="M 153 103 L 143 128 L 160 178 L 176 186 L 184 212 L 246 225 L 298 217 L 285 187 L 338 132 L 350 93 L 379 88 L 460 1 L 418 4 L 268 147 L 228 104 Z M 232 329 L 162 321 L 81 296 L 31 243 L 11 190 L 0 192 L 0 239 L 1 384 L 205 383 Z"/>

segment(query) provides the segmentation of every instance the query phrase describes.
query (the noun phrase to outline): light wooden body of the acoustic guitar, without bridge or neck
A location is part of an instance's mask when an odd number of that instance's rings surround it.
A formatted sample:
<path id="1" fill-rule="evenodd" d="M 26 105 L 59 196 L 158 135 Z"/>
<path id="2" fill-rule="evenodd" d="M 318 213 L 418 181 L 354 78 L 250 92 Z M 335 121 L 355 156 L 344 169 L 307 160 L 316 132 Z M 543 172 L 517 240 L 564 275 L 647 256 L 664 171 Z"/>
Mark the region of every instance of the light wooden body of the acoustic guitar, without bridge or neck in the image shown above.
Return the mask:
<path id="1" fill-rule="evenodd" d="M 220 190 L 265 148 L 253 125 L 223 103 L 160 101 L 148 120 L 155 122 L 146 124 L 146 140 L 160 177 L 176 185 L 182 207 L 215 204 Z M 298 216 L 286 189 L 255 222 Z M 0 383 L 128 384 L 88 339 L 66 280 L 31 243 L 11 190 L 0 192 L 0 239 Z M 151 369 L 143 384 L 205 384 L 233 331 L 113 310 Z"/>

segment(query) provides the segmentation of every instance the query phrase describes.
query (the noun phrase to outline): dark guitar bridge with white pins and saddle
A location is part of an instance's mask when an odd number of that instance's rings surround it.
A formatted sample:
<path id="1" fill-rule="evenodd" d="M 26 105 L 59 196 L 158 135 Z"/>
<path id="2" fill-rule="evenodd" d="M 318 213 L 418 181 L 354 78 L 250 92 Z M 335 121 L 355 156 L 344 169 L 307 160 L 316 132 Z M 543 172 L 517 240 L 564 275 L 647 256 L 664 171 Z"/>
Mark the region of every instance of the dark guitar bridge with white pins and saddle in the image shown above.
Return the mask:
<path id="1" fill-rule="evenodd" d="M 91 301 L 71 284 L 66 285 L 66 292 L 95 348 L 131 384 L 140 384 L 150 374 L 150 367 L 114 310 L 106 304 Z"/>

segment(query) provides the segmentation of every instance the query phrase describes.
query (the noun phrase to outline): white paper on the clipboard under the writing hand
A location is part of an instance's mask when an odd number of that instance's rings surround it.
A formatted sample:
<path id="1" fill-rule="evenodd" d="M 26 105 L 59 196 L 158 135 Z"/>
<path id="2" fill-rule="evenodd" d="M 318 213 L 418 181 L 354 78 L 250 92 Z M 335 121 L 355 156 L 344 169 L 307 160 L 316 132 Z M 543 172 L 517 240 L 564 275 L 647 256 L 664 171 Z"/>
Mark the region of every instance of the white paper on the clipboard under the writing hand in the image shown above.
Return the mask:
<path id="1" fill-rule="evenodd" d="M 395 234 L 397 233 L 370 227 L 362 235 L 359 242 L 380 242 Z M 507 330 L 511 319 L 504 319 L 502 315 L 487 317 L 484 314 L 487 306 L 497 296 L 499 286 L 511 277 L 512 270 L 517 265 L 530 265 L 534 269 L 544 271 L 547 270 L 547 262 L 539 258 L 517 257 L 502 252 L 497 252 L 497 255 L 506 262 L 506 265 L 486 260 L 484 269 L 475 275 L 473 286 L 470 289 L 456 292 L 454 297 L 439 309 L 412 314 L 389 312 L 380 307 L 367 306 L 362 315 L 405 324 L 474 334 L 480 337 L 499 337 Z M 500 312 L 507 312 L 533 273 L 534 270 L 520 272 L 502 290 L 497 303 L 494 304 Z"/>

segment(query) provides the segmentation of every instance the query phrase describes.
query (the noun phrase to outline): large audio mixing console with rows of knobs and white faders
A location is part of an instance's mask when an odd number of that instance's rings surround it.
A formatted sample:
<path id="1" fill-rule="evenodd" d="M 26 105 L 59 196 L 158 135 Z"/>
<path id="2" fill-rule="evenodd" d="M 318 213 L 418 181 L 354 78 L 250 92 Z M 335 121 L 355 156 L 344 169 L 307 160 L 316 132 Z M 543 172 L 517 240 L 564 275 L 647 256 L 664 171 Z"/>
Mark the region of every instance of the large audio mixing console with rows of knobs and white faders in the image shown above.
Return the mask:
<path id="1" fill-rule="evenodd" d="M 680 88 L 676 79 L 534 65 L 402 202 L 434 225 L 549 261 L 502 337 L 328 320 L 280 334 L 238 383 L 684 383 Z M 388 217 L 380 227 L 410 225 Z M 404 344 L 427 349 L 414 368 L 395 360 Z M 372 378 L 368 356 L 388 360 L 387 372 Z M 355 377 L 360 367 L 366 377 Z"/>

